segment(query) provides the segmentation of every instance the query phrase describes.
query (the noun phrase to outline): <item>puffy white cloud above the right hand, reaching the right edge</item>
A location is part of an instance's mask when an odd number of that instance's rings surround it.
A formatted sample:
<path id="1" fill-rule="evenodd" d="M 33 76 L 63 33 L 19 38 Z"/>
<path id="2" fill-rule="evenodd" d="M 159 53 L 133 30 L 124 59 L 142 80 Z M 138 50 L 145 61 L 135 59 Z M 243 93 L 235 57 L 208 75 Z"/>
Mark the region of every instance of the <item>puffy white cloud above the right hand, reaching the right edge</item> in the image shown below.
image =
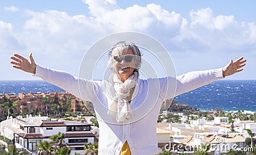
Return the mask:
<path id="1" fill-rule="evenodd" d="M 191 22 L 182 25 L 180 34 L 172 38 L 179 52 L 241 52 L 255 44 L 255 24 L 237 22 L 234 16 L 214 16 L 211 8 L 191 11 Z"/>

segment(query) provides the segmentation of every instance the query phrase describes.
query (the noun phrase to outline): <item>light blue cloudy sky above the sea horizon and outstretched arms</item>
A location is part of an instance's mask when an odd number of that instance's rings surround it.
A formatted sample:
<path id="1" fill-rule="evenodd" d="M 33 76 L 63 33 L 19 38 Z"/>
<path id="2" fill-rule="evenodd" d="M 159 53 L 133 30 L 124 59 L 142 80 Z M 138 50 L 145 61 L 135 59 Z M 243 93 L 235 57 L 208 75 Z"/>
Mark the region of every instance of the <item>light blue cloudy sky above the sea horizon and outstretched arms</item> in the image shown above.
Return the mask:
<path id="1" fill-rule="evenodd" d="M 0 80 L 40 80 L 12 68 L 14 53 L 75 76 L 93 43 L 132 31 L 158 40 L 177 75 L 221 68 L 243 56 L 227 80 L 256 80 L 256 1 L 0 0 Z"/>

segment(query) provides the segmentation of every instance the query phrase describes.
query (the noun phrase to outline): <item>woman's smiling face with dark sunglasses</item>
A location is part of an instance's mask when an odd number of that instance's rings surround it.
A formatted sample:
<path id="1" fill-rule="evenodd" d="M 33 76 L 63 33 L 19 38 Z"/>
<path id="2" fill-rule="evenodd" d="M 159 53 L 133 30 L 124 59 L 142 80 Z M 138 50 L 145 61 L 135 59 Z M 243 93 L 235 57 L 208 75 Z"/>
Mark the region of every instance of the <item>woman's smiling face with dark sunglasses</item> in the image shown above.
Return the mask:
<path id="1" fill-rule="evenodd" d="M 131 57 L 132 56 L 132 57 Z M 115 71 L 119 79 L 124 82 L 127 78 L 131 77 L 135 68 L 134 53 L 131 48 L 128 48 L 124 55 L 114 56 L 115 59 Z M 128 61 L 128 62 L 127 62 Z M 129 62 L 130 61 L 130 62 Z"/>

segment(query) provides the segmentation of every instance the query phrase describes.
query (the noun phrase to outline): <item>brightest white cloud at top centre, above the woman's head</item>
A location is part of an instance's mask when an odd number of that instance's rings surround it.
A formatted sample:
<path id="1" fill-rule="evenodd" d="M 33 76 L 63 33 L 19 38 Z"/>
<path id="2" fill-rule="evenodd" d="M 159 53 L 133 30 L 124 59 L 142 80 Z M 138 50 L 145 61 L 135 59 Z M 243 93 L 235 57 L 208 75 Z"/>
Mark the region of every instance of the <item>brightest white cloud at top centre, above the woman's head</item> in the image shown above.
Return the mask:
<path id="1" fill-rule="evenodd" d="M 88 4 L 92 18 L 110 32 L 140 31 L 167 38 L 179 33 L 183 22 L 179 13 L 164 10 L 156 4 L 120 8 L 115 1 L 84 0 L 84 3 Z"/>

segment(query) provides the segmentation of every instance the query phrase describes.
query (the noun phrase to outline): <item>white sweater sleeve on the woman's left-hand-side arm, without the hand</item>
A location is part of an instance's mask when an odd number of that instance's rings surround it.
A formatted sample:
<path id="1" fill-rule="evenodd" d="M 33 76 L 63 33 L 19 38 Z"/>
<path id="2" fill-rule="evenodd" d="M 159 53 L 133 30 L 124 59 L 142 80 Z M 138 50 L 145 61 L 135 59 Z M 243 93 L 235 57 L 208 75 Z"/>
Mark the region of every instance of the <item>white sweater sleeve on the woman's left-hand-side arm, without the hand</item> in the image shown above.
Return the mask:
<path id="1" fill-rule="evenodd" d="M 46 82 L 56 85 L 74 94 L 77 98 L 82 98 L 86 101 L 92 101 L 95 97 L 95 89 L 99 88 L 99 82 L 77 78 L 70 73 L 44 68 L 39 65 L 36 65 L 36 73 L 34 76 L 40 77 Z"/>

